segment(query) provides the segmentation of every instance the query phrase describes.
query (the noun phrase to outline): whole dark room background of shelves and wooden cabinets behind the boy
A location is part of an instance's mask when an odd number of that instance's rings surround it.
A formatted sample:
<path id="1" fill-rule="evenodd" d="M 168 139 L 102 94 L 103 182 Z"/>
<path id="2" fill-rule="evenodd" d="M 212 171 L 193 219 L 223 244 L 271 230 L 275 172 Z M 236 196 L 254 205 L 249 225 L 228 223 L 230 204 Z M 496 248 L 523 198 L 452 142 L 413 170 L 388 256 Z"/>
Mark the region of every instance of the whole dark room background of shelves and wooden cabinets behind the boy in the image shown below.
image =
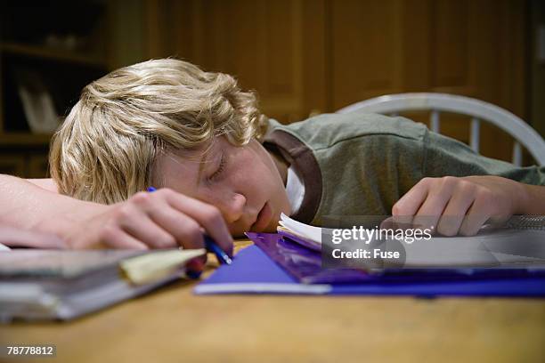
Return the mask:
<path id="1" fill-rule="evenodd" d="M 167 56 L 233 74 L 257 91 L 264 113 L 282 122 L 382 94 L 443 92 L 490 101 L 545 134 L 538 36 L 540 28 L 545 33 L 545 2 L 538 0 L 25 0 L 0 6 L 0 173 L 46 174 L 50 134 L 28 127 L 17 91 L 20 69 L 39 78 L 62 117 L 94 78 Z M 468 120 L 443 120 L 442 133 L 468 141 Z M 481 145 L 486 156 L 510 159 L 512 141 L 498 129 L 484 128 Z"/>

